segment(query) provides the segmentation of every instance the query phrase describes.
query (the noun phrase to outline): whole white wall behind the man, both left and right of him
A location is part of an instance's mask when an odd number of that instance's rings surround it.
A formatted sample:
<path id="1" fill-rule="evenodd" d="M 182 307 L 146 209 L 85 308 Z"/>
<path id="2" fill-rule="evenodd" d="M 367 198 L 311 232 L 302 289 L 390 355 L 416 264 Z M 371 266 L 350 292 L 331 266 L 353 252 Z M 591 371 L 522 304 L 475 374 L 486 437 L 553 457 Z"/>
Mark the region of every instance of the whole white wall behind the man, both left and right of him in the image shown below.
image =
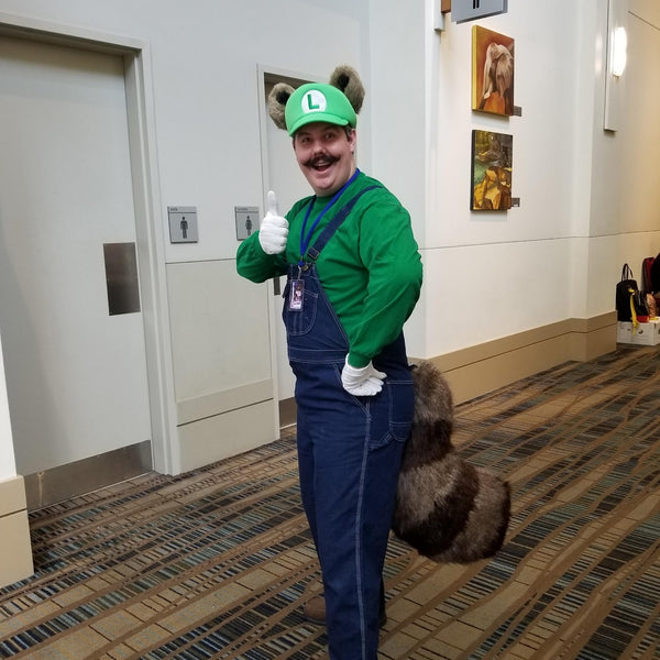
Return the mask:
<path id="1" fill-rule="evenodd" d="M 265 287 L 227 305 L 243 290 L 233 272 L 233 207 L 263 208 L 258 65 L 302 77 L 342 62 L 361 72 L 360 165 L 410 210 L 425 262 L 424 297 L 407 328 L 411 354 L 609 311 L 623 261 L 638 274 L 641 257 L 660 251 L 660 186 L 645 148 L 660 143 L 660 91 L 642 74 L 660 56 L 657 0 L 629 0 L 630 117 L 616 134 L 602 130 L 606 0 L 509 0 L 507 14 L 479 21 L 516 40 L 522 117 L 508 120 L 470 109 L 472 23 L 448 16 L 436 33 L 436 1 L 0 0 L 3 12 L 151 44 L 162 208 L 195 205 L 199 220 L 199 243 L 170 245 L 162 218 L 176 278 L 178 400 L 267 371 L 253 351 L 267 322 Z M 472 129 L 514 135 L 520 208 L 469 210 Z M 209 277 L 218 278 L 212 292 Z M 216 294 L 226 295 L 222 304 Z M 0 452 L 10 451 L 1 435 Z"/>

